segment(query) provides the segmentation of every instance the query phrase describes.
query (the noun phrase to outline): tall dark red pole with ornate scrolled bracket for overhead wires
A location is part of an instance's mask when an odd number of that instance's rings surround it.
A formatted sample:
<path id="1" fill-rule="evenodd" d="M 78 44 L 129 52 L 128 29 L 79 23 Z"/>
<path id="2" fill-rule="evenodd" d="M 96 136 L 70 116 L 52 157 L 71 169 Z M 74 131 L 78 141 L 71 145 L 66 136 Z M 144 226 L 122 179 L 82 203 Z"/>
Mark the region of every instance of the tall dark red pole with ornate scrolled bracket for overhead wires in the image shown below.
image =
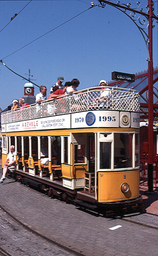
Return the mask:
<path id="1" fill-rule="evenodd" d="M 105 7 L 106 4 L 111 5 L 120 11 L 128 10 L 130 11 L 130 15 L 126 15 L 134 21 L 136 24 L 136 21 L 140 22 L 140 17 L 144 16 L 148 21 L 148 35 L 146 32 L 144 32 L 144 28 L 141 28 L 139 25 L 137 25 L 138 29 L 142 33 L 143 38 L 146 38 L 146 42 L 148 43 L 148 191 L 153 192 L 153 20 L 157 20 L 158 22 L 158 16 L 156 16 L 153 13 L 153 5 L 154 2 L 152 0 L 148 0 L 148 14 L 144 13 L 142 9 L 140 11 L 136 10 L 137 8 L 131 8 L 130 3 L 120 3 L 120 1 L 117 1 L 117 3 L 107 1 L 107 0 L 98 0 L 102 7 Z M 136 4 L 140 7 L 141 3 L 139 1 L 136 2 Z M 125 12 L 124 11 L 124 12 Z M 138 19 L 135 19 L 134 16 L 132 17 L 132 14 L 139 14 L 140 17 Z M 142 23 L 140 22 L 142 25 Z M 146 28 L 147 28 L 146 27 Z M 145 36 L 144 36 L 144 35 Z"/>

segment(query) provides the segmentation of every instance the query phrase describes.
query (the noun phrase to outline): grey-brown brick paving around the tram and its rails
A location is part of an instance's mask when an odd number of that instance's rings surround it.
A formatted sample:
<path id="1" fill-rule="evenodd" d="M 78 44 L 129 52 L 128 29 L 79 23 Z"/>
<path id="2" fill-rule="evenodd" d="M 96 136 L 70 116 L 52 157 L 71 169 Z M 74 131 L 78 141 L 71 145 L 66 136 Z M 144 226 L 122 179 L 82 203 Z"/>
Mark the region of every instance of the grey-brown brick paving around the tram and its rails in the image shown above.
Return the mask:
<path id="1" fill-rule="evenodd" d="M 157 214 L 158 194 L 145 195 L 145 188 L 141 186 L 145 207 L 147 211 Z M 103 218 L 95 213 L 80 210 L 74 205 L 51 199 L 13 179 L 7 179 L 0 184 L 0 206 L 36 232 L 86 256 L 158 255 L 157 229 L 121 219 Z M 49 247 L 49 243 L 12 223 L 4 212 L 0 214 L 0 247 L 7 249 L 11 255 L 70 255 L 59 248 L 53 251 L 55 249 Z M 158 225 L 157 216 L 149 218 L 146 214 L 142 214 L 128 218 L 132 220 L 139 218 L 142 223 L 152 224 L 155 227 Z M 121 227 L 115 230 L 109 229 L 117 225 Z"/>

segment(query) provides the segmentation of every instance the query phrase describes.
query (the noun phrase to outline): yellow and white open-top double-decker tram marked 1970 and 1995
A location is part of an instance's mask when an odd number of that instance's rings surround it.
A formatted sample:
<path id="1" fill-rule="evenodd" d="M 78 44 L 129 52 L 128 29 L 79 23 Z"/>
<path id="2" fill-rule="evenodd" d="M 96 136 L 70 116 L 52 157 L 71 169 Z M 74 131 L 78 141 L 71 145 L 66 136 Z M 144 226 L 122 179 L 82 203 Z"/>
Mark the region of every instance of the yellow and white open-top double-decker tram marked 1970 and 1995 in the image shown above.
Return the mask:
<path id="1" fill-rule="evenodd" d="M 87 208 L 141 209 L 140 97 L 102 90 L 2 113 L 2 164 L 15 145 L 19 181 Z"/>

